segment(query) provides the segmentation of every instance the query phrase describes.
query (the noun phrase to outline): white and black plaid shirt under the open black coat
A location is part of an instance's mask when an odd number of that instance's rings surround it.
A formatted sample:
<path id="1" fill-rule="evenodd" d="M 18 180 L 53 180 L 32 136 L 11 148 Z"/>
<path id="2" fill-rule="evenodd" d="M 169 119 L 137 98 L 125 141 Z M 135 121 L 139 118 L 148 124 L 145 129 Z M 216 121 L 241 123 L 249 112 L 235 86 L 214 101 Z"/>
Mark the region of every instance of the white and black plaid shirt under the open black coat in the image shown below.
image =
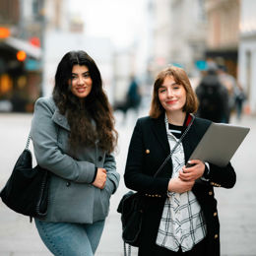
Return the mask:
<path id="1" fill-rule="evenodd" d="M 170 149 L 178 141 L 165 125 Z M 172 176 L 177 177 L 179 170 L 185 164 L 182 143 L 178 145 L 172 157 Z M 157 244 L 171 251 L 189 251 L 204 239 L 207 233 L 201 207 L 192 191 L 182 194 L 169 192 L 163 207 Z"/>

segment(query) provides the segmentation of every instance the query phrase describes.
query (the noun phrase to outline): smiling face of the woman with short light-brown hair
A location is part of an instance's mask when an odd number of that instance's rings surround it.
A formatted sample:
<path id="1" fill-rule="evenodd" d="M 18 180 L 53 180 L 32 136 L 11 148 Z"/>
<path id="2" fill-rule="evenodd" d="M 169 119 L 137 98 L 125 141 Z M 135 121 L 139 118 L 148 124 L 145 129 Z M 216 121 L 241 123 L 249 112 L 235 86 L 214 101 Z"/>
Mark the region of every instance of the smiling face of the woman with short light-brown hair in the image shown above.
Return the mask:
<path id="1" fill-rule="evenodd" d="M 160 104 L 166 112 L 182 111 L 186 103 L 186 90 L 173 77 L 167 76 L 159 89 Z"/>

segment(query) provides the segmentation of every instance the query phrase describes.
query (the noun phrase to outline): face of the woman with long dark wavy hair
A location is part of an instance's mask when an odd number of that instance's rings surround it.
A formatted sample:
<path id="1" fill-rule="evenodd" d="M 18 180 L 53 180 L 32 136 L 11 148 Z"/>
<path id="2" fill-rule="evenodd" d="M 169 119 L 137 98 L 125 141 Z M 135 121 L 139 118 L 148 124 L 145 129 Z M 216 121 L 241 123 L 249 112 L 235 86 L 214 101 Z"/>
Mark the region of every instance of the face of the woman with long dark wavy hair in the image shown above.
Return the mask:
<path id="1" fill-rule="evenodd" d="M 72 68 L 71 92 L 74 96 L 85 98 L 90 95 L 93 80 L 87 66 L 74 65 Z"/>

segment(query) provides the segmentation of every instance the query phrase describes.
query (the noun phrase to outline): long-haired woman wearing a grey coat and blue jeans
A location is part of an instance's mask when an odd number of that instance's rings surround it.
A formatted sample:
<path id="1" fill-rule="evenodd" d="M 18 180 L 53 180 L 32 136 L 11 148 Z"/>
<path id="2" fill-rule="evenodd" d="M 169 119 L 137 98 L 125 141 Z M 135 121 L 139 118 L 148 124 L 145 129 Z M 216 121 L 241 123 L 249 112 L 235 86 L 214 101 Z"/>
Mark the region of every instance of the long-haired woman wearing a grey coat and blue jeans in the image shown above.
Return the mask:
<path id="1" fill-rule="evenodd" d="M 112 110 L 86 52 L 61 59 L 52 96 L 35 102 L 31 134 L 50 173 L 47 217 L 34 220 L 42 241 L 54 255 L 95 255 L 119 174 Z"/>

